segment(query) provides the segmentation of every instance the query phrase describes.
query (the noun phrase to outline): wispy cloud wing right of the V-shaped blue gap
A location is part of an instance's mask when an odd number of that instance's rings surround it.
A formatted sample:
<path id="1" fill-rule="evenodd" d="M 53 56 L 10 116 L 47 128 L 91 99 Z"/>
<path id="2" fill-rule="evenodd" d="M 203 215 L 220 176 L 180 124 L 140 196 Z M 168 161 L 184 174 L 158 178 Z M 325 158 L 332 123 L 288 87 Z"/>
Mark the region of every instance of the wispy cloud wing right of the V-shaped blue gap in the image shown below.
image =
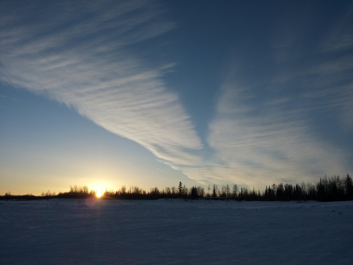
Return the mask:
<path id="1" fill-rule="evenodd" d="M 339 37 L 337 42 L 346 43 L 340 49 L 348 47 L 346 35 Z M 324 52 L 337 52 L 339 47 L 333 46 Z M 286 54 L 280 61 L 283 69 L 269 72 L 272 81 L 262 80 L 262 85 L 243 82 L 229 67 L 207 140 L 217 163 L 200 178 L 220 176 L 264 187 L 274 180 L 315 181 L 325 173 L 351 167 L 348 151 L 335 144 L 337 139 L 323 137 L 320 123 L 327 120 L 327 126 L 337 126 L 328 130 L 353 131 L 352 55 L 341 53 L 308 62 L 303 54 L 291 57 L 290 47 Z M 293 67 L 298 58 L 303 64 Z"/>

